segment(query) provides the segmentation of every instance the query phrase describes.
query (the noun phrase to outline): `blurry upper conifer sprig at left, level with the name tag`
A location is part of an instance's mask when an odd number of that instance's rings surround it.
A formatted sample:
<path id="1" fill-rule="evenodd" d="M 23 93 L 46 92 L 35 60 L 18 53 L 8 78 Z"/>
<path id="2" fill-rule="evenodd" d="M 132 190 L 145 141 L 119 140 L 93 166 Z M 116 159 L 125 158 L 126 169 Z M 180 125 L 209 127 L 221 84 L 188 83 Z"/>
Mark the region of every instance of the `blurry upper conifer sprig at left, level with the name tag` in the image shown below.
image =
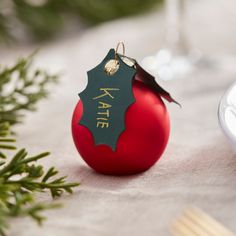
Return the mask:
<path id="1" fill-rule="evenodd" d="M 58 76 L 45 70 L 31 71 L 32 55 L 20 58 L 12 67 L 0 68 L 0 123 L 21 123 L 24 111 L 35 111 L 36 103 L 47 97 L 49 84 Z"/>

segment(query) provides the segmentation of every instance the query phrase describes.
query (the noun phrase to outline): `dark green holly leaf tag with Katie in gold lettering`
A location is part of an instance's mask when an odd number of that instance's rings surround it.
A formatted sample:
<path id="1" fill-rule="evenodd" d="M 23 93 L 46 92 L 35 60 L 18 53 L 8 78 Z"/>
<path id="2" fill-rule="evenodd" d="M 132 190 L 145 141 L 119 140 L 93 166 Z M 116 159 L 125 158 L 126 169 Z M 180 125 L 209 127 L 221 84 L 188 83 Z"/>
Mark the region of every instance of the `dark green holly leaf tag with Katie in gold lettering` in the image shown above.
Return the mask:
<path id="1" fill-rule="evenodd" d="M 109 67 L 109 63 L 113 66 Z M 91 131 L 96 145 L 105 144 L 115 151 L 117 140 L 125 130 L 127 108 L 135 102 L 132 91 L 135 73 L 136 69 L 124 63 L 114 49 L 87 72 L 87 87 L 79 94 L 83 103 L 79 124 Z"/>

